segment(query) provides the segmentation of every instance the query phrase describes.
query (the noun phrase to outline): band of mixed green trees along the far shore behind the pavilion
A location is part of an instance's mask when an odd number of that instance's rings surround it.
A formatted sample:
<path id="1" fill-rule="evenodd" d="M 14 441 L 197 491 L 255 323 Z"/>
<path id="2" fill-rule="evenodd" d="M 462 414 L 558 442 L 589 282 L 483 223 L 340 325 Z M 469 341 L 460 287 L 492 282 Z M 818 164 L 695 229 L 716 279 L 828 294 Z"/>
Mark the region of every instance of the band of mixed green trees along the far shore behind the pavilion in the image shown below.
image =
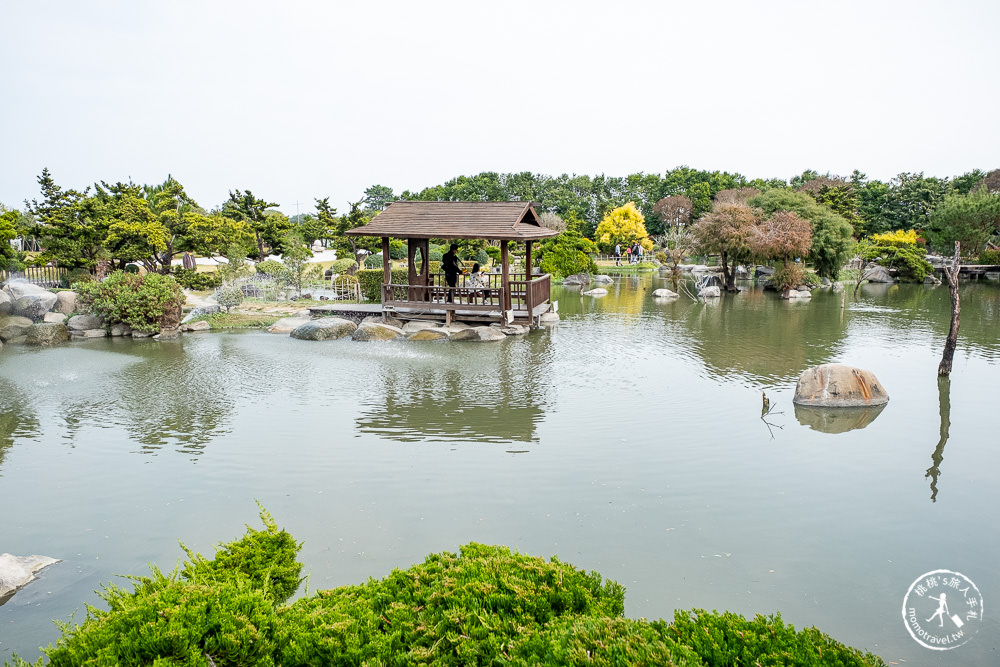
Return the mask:
<path id="1" fill-rule="evenodd" d="M 722 256 L 727 280 L 730 266 L 750 258 L 788 266 L 800 256 L 808 256 L 820 275 L 835 277 L 855 241 L 896 231 L 919 230 L 920 238 L 941 252 L 955 241 L 975 252 L 996 240 L 1000 229 L 1000 169 L 953 178 L 904 172 L 888 182 L 859 171 L 748 179 L 687 166 L 624 177 L 483 172 L 398 195 L 373 185 L 343 215 L 329 197 L 316 198 L 315 214 L 293 217 L 278 211 L 277 203 L 239 189 L 206 210 L 170 176 L 158 185 L 101 181 L 78 191 L 60 187 L 44 169 L 38 183 L 41 198 L 26 201 L 23 211 L 0 208 L 0 241 L 31 238 L 41 250 L 32 261 L 91 271 L 107 262 L 164 273 L 183 252 L 262 261 L 289 243 L 317 240 L 353 256 L 360 248 L 377 250 L 378 241 L 348 239 L 344 232 L 367 224 L 397 199 L 535 202 L 543 221 L 566 230 L 565 240 L 581 251 L 591 248 L 581 240 L 604 251 L 635 240 L 598 229 L 632 202 L 644 223 L 642 237 L 667 251 L 696 242 L 702 251 Z M 0 262 L 10 266 L 25 259 L 0 242 Z"/>

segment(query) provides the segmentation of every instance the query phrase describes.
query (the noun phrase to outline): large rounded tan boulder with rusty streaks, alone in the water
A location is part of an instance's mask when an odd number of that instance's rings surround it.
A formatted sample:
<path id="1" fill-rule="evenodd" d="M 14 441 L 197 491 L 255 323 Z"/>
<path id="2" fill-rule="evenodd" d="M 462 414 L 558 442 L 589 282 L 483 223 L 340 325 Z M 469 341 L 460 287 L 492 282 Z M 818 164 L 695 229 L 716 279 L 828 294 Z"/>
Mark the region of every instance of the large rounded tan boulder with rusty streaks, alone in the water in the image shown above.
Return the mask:
<path id="1" fill-rule="evenodd" d="M 884 405 L 889 394 L 871 371 L 844 364 L 807 368 L 795 385 L 792 403 L 816 407 L 856 408 Z"/>

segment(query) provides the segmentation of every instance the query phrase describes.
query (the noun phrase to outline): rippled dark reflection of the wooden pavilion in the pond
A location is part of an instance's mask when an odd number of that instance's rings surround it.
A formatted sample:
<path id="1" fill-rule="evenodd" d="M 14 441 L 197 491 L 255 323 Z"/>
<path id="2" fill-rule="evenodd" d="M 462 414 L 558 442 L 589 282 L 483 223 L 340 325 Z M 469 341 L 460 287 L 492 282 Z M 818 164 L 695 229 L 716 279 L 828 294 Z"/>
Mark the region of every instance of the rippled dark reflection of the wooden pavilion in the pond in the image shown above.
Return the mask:
<path id="1" fill-rule="evenodd" d="M 358 428 L 403 442 L 534 442 L 545 403 L 546 382 L 538 377 L 547 365 L 544 338 L 464 344 L 463 354 L 443 354 L 436 366 L 400 368 L 397 361 L 381 373 L 384 393 L 358 417 Z"/>

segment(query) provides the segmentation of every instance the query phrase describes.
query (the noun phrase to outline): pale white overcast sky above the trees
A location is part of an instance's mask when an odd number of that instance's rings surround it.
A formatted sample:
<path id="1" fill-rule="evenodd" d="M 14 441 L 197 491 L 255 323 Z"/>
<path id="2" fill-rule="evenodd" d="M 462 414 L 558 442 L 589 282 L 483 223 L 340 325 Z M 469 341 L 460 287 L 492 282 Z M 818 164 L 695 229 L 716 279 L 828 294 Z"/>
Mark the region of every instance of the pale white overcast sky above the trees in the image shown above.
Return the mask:
<path id="1" fill-rule="evenodd" d="M 0 202 L 1000 167 L 1000 2 L 0 0 Z"/>

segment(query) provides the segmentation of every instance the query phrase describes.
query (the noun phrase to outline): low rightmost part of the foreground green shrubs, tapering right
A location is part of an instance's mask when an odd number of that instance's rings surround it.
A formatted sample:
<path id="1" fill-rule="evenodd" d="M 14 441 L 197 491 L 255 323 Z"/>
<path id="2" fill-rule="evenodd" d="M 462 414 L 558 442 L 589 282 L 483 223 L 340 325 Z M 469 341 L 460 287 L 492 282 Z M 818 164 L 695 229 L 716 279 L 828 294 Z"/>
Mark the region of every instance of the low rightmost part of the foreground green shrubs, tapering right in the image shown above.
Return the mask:
<path id="1" fill-rule="evenodd" d="M 816 628 L 799 632 L 781 614 L 747 620 L 729 612 L 704 609 L 677 611 L 669 633 L 694 649 L 712 667 L 873 667 L 885 663 L 876 655 L 845 646 Z"/>

